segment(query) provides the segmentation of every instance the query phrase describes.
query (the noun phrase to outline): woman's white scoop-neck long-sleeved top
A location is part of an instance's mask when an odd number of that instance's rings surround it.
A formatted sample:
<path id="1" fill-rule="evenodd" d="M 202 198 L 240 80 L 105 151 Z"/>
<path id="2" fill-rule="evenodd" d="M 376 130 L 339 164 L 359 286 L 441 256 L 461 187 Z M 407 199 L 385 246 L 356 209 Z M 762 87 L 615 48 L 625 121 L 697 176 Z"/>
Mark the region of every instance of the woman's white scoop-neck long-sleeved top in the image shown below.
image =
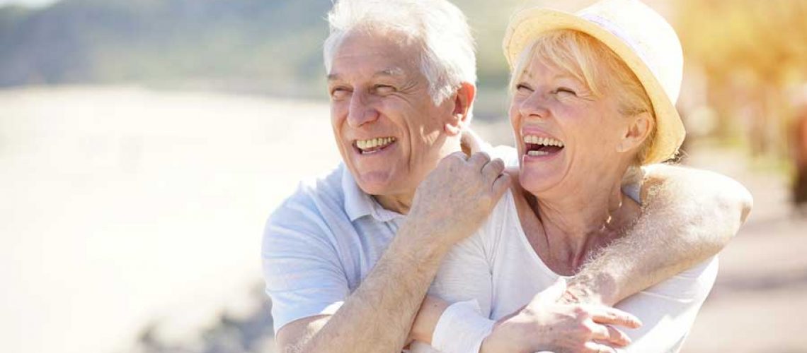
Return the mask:
<path id="1" fill-rule="evenodd" d="M 638 187 L 625 193 L 638 199 Z M 452 303 L 475 300 L 480 315 L 496 320 L 521 309 L 559 277 L 533 251 L 521 228 L 513 195 L 508 192 L 483 227 L 448 253 L 429 293 Z M 633 341 L 625 351 L 679 351 L 715 277 L 717 257 L 617 303 L 617 309 L 635 315 L 643 323 L 636 330 L 620 327 Z M 444 318 L 434 333 L 433 344 L 459 339 L 452 335 L 469 339 L 452 332 L 452 327 L 462 326 L 459 322 L 445 322 Z M 476 339 L 481 343 L 483 337 Z M 479 345 L 470 347 L 478 349 Z M 453 351 L 451 347 L 412 345 L 415 352 L 441 350 Z"/>

